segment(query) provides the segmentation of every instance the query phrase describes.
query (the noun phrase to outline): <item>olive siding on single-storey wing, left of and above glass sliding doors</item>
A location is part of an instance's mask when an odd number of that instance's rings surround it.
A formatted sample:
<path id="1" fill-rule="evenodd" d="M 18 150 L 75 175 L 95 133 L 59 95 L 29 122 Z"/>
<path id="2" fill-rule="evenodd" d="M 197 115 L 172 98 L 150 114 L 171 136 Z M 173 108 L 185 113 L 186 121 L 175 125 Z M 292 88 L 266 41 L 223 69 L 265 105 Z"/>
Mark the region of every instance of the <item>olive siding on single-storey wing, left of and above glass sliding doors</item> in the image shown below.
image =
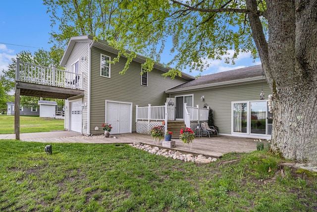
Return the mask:
<path id="1" fill-rule="evenodd" d="M 239 85 L 231 85 L 217 88 L 208 88 L 194 91 L 174 93 L 177 95 L 194 94 L 194 106 L 204 107 L 204 104 L 212 109 L 214 125 L 219 128 L 220 134 L 231 134 L 231 102 L 260 100 L 263 90 L 265 99 L 271 94 L 271 89 L 266 82 L 255 82 Z M 205 96 L 201 101 L 201 96 Z"/>

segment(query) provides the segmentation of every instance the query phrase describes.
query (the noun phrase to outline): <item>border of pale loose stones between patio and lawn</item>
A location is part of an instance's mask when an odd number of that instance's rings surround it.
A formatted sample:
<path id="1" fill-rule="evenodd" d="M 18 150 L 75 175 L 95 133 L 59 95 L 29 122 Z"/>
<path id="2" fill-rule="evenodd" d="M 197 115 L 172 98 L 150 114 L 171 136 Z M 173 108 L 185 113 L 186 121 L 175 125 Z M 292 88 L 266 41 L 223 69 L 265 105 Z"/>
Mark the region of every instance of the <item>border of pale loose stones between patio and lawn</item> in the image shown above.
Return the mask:
<path id="1" fill-rule="evenodd" d="M 177 160 L 182 160 L 184 162 L 193 162 L 197 164 L 202 164 L 202 163 L 210 163 L 214 162 L 217 160 L 217 158 L 207 158 L 206 156 L 200 154 L 198 156 L 194 156 L 193 154 L 183 154 L 180 151 L 173 151 L 173 150 L 168 150 L 166 148 L 160 149 L 158 146 L 151 146 L 148 144 L 143 144 L 139 142 L 134 142 L 129 144 L 132 147 L 147 151 L 151 154 L 156 154 L 156 155 L 161 155 L 164 157 L 169 157 L 172 159 L 177 159 Z"/>

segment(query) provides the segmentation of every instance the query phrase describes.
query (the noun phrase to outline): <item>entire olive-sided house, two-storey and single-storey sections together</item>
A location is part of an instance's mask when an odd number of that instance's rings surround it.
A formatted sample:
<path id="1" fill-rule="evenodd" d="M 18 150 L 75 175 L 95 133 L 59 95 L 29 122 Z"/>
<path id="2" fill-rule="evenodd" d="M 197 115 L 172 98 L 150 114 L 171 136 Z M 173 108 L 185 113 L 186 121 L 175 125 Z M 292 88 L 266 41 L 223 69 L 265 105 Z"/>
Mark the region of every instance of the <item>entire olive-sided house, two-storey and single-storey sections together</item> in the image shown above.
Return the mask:
<path id="1" fill-rule="evenodd" d="M 220 135 L 270 138 L 272 114 L 260 93 L 267 99 L 271 90 L 261 66 L 197 79 L 182 73 L 171 79 L 161 75 L 169 69 L 159 64 L 140 75 L 146 58 L 139 55 L 121 75 L 126 59 L 109 63 L 116 56 L 116 50 L 91 36 L 70 39 L 60 65 L 81 75 L 81 79 L 66 81 L 81 81 L 84 95 L 65 100 L 65 129 L 101 134 L 106 122 L 113 127 L 111 134 L 148 133 L 167 120 L 181 120 L 196 128 L 197 122 L 208 120 L 210 107 Z"/>

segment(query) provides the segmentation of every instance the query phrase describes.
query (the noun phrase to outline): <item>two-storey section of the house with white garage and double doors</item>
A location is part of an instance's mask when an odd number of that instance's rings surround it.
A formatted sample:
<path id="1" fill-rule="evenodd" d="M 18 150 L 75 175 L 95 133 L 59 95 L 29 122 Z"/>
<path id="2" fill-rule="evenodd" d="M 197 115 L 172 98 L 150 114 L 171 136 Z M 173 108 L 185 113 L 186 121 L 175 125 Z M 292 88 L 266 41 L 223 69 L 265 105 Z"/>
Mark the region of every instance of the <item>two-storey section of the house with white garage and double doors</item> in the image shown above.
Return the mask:
<path id="1" fill-rule="evenodd" d="M 168 97 L 165 90 L 194 79 L 186 73 L 174 79 L 164 78 L 161 74 L 169 69 L 157 64 L 153 71 L 141 75 L 141 64 L 146 60 L 142 56 L 131 62 L 124 75 L 119 74 L 126 58 L 109 63 L 117 52 L 91 36 L 70 39 L 60 65 L 81 74 L 84 95 L 65 100 L 65 129 L 101 134 L 101 125 L 107 122 L 113 127 L 111 134 L 136 132 L 136 105 L 164 105 Z"/>

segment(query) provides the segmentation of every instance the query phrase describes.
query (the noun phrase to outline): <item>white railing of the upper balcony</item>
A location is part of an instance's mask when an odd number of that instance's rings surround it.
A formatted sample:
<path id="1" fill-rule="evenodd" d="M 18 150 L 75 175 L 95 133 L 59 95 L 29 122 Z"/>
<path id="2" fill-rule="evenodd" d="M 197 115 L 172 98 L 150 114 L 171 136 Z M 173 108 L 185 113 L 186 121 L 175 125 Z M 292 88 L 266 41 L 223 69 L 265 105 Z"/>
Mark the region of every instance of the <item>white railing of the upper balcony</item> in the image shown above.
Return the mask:
<path id="1" fill-rule="evenodd" d="M 83 89 L 82 74 L 21 62 L 17 58 L 15 80 L 56 87 Z"/>

